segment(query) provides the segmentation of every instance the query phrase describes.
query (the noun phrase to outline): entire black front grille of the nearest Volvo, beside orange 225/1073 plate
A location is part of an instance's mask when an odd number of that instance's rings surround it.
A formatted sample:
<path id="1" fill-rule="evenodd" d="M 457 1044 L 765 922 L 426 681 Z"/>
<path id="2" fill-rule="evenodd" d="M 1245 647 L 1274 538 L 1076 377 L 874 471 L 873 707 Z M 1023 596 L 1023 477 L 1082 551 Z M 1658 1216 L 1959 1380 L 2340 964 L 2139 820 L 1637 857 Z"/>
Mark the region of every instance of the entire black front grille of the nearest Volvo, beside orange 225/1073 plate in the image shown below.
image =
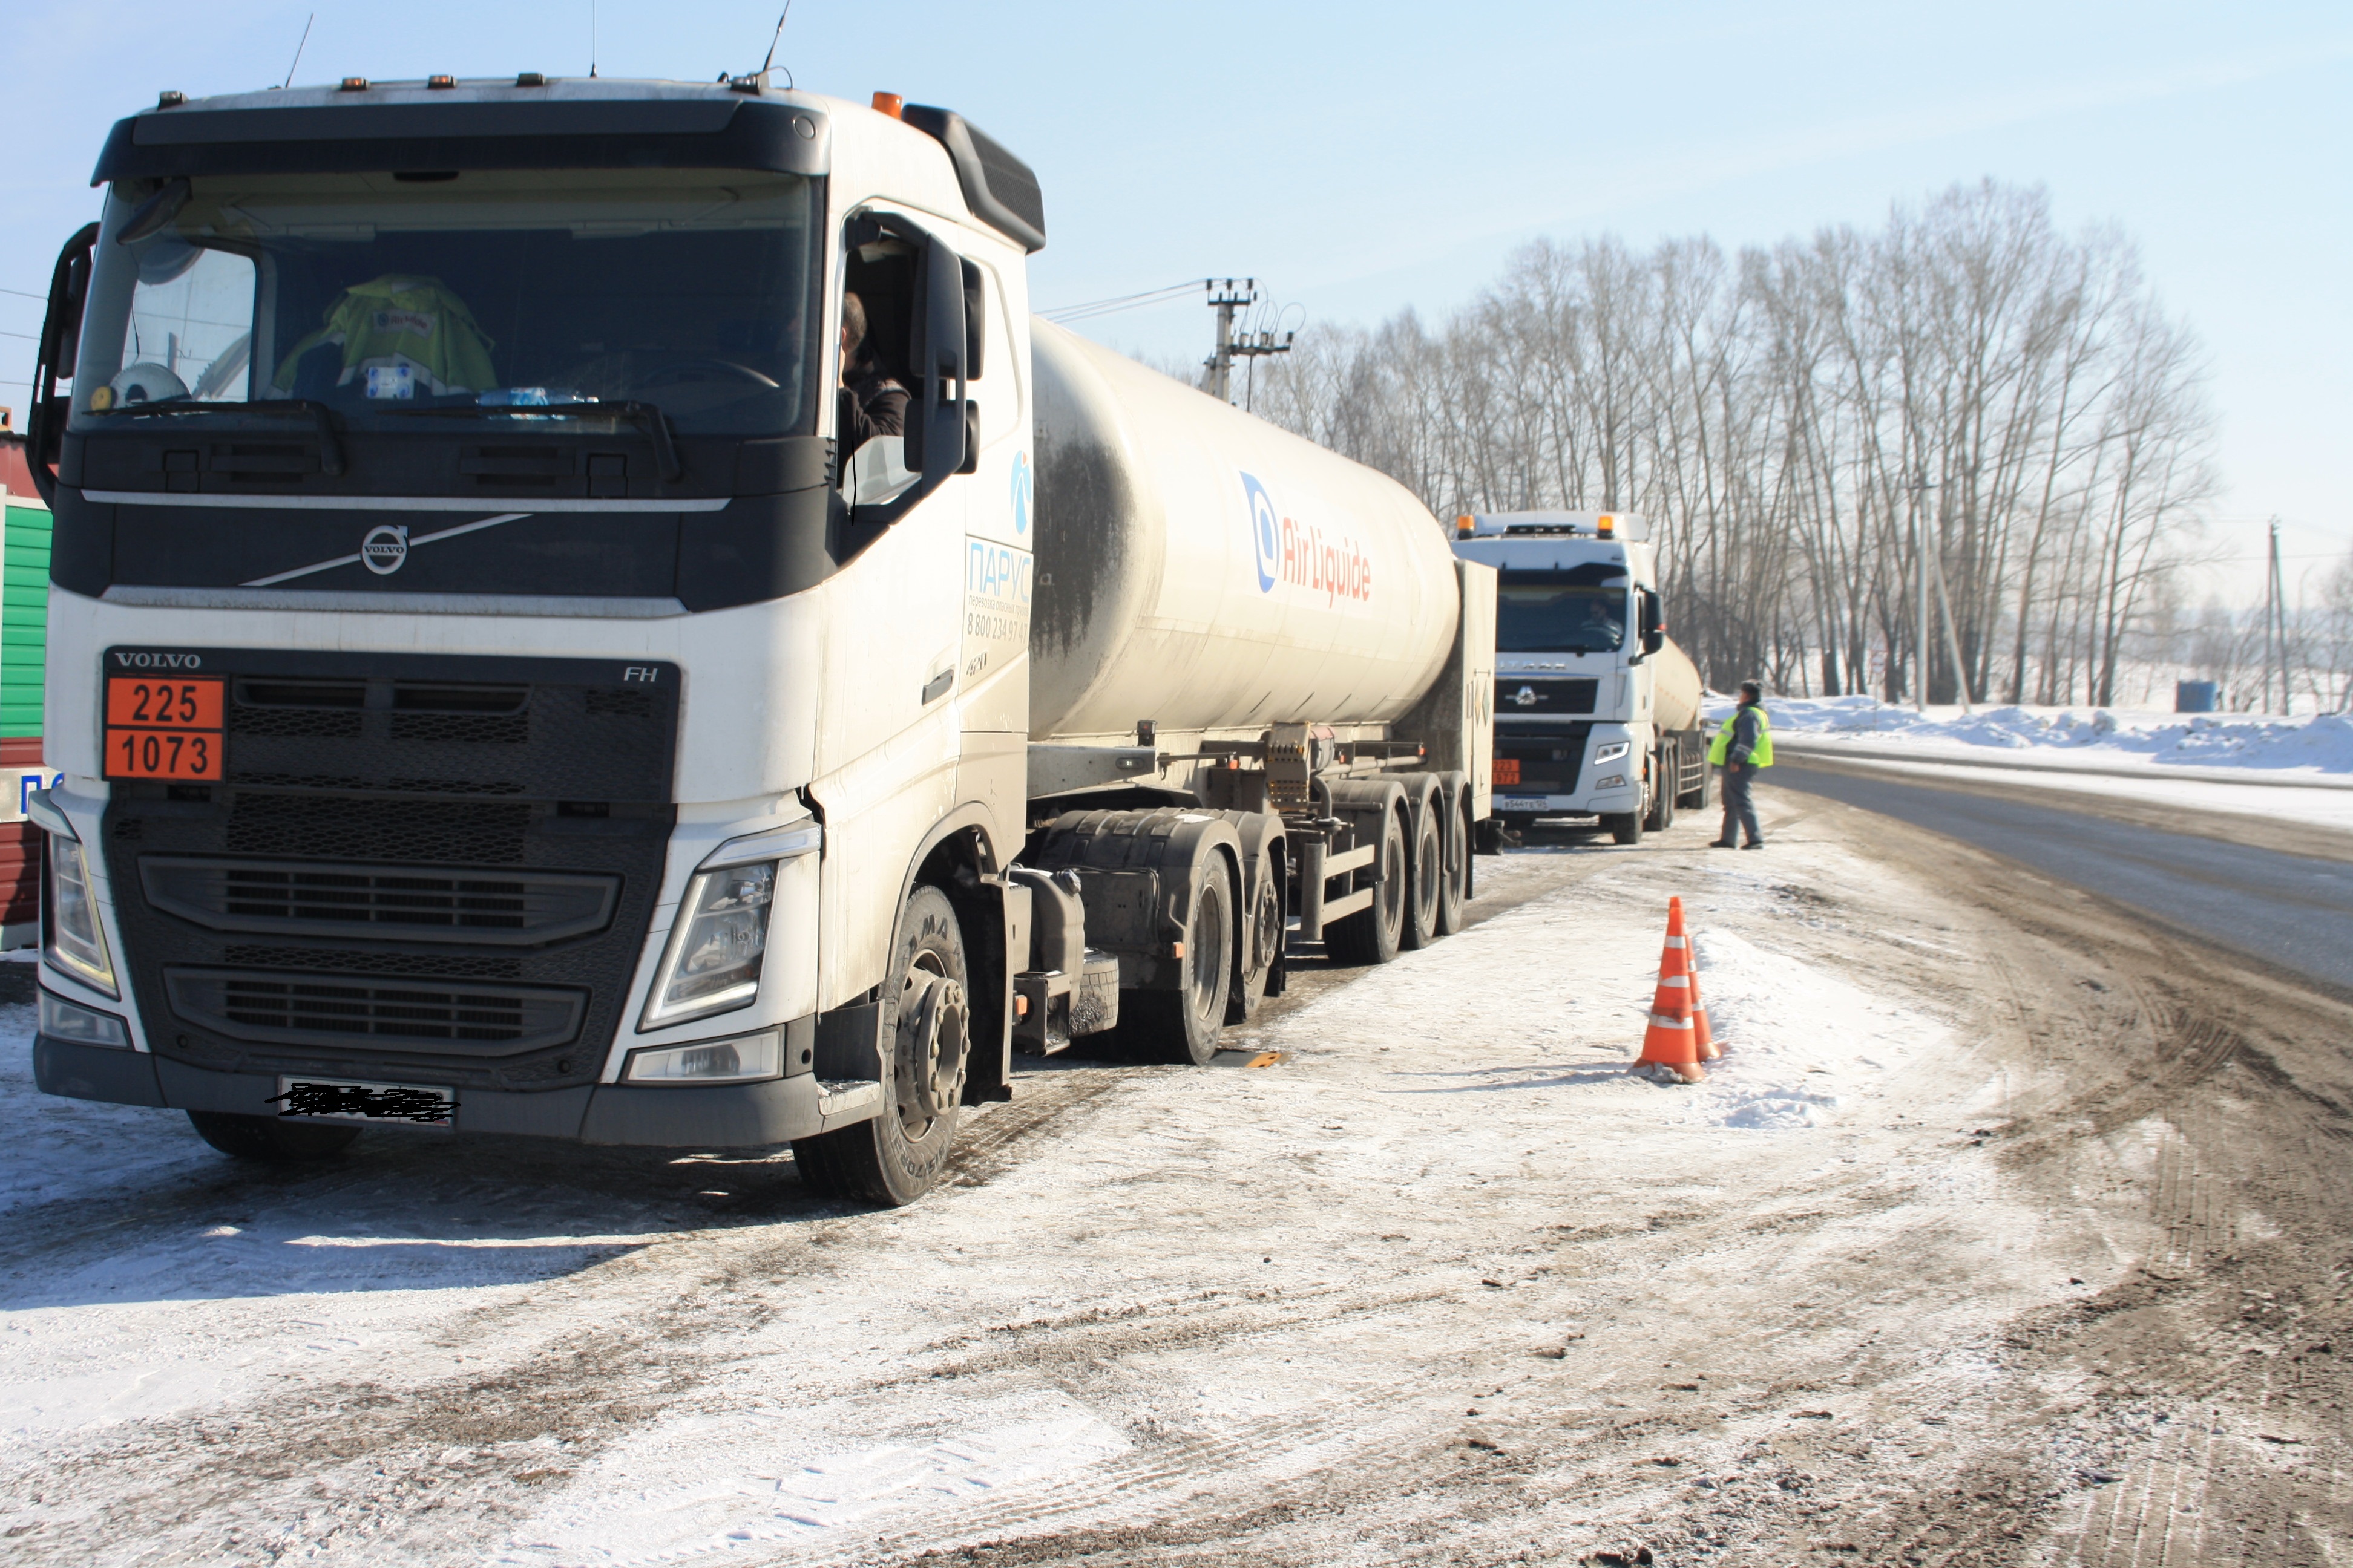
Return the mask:
<path id="1" fill-rule="evenodd" d="M 101 839 L 153 1048 L 209 1072 L 593 1084 L 661 896 L 678 670 L 202 661 L 228 684 L 224 776 L 115 780 Z"/>

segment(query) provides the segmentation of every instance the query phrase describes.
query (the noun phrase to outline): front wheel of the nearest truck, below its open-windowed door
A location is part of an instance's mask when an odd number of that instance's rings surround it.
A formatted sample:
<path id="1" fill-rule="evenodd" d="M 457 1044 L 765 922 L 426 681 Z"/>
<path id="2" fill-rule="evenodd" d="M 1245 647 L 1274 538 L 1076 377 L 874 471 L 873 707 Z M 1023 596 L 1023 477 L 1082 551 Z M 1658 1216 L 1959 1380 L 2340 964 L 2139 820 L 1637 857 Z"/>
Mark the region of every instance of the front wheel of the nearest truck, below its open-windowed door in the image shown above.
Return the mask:
<path id="1" fill-rule="evenodd" d="M 882 1114 L 793 1143 L 809 1187 L 904 1208 L 939 1180 L 972 1063 L 972 971 L 948 896 L 920 886 L 899 912 L 882 985 Z"/>

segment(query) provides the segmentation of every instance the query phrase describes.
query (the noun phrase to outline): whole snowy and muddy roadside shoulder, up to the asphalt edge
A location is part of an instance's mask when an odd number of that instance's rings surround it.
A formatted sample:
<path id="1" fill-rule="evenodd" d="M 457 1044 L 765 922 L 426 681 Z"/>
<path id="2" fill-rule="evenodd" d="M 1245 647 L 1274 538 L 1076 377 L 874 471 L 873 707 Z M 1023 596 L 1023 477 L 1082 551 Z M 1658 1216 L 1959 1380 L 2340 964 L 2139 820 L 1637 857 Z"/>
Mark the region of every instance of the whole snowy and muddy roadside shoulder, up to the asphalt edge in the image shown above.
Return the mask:
<path id="1" fill-rule="evenodd" d="M 1767 827 L 1482 860 L 1482 924 L 1306 966 L 1235 1065 L 1045 1063 L 896 1213 L 786 1152 L 254 1171 L 35 1095 L 12 1009 L 0 1540 L 2344 1561 L 2346 1009 L 1868 813 Z M 1694 1088 L 1626 1072 L 1668 893 Z"/>

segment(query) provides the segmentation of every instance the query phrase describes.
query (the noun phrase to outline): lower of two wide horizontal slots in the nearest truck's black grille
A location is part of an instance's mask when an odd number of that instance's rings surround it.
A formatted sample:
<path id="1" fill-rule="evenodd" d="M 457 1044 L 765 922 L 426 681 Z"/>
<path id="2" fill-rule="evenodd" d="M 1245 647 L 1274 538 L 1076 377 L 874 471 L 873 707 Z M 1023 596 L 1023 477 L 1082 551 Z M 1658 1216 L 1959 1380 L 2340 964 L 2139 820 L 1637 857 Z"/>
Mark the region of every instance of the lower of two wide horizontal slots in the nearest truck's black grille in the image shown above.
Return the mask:
<path id="1" fill-rule="evenodd" d="M 231 1039 L 515 1056 L 579 1037 L 586 997 L 529 985 L 433 985 L 268 969 L 167 969 L 172 1011 Z"/>

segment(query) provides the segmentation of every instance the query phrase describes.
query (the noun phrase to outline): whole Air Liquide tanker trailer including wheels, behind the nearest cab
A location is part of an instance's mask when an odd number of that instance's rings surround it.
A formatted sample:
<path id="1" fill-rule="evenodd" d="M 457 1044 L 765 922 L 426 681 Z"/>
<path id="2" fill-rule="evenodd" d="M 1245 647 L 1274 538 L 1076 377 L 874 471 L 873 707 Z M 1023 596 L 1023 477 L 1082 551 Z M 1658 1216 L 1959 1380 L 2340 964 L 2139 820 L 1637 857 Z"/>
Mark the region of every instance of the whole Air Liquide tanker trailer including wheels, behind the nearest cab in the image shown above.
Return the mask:
<path id="1" fill-rule="evenodd" d="M 1381 964 L 1461 924 L 1494 574 L 1369 468 L 1031 322 L 1038 910 L 1016 1041 L 1207 1060 L 1289 940 Z M 1082 938 L 1080 938 L 1082 933 Z"/>

